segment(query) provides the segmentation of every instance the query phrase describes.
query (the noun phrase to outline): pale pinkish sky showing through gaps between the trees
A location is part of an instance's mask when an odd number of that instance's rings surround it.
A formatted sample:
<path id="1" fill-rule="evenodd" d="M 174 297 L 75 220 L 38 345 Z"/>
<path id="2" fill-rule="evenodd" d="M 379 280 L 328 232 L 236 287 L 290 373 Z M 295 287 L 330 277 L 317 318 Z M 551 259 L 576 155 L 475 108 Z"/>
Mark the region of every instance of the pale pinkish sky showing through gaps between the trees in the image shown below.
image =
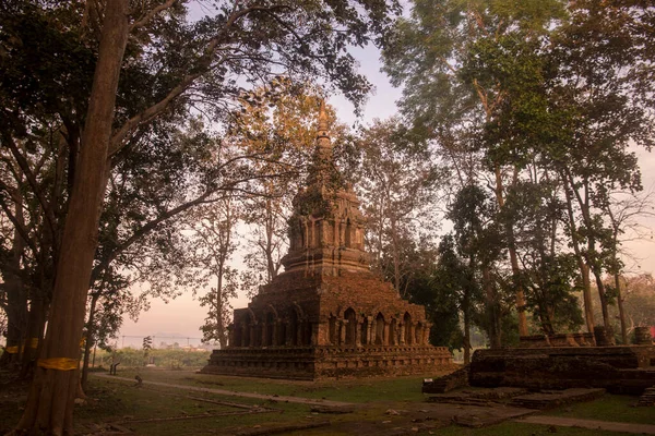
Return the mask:
<path id="1" fill-rule="evenodd" d="M 380 72 L 379 51 L 371 47 L 366 50 L 354 50 L 353 55 L 360 62 L 360 71 L 376 85 L 376 92 L 369 97 L 359 120 L 355 118 L 353 106 L 344 97 L 331 97 L 329 102 L 336 108 L 340 121 L 350 125 L 356 121 L 368 124 L 376 118 L 386 119 L 396 113 L 395 101 L 401 97 L 401 90 L 393 88 L 389 84 L 388 76 Z M 642 168 L 644 191 L 655 190 L 655 155 L 645 150 L 638 150 L 638 155 Z M 644 220 L 644 223 L 655 228 L 655 219 Z M 651 239 L 627 244 L 626 249 L 636 259 L 626 259 L 627 269 L 631 272 L 655 271 L 655 258 L 651 255 L 654 247 Z M 245 307 L 248 299 L 243 295 L 231 301 L 231 304 L 235 308 Z M 118 338 L 118 346 L 131 344 L 140 348 L 143 337 L 156 336 L 156 334 L 168 334 L 166 336 L 175 334 L 182 338 L 190 338 L 188 341 L 191 344 L 198 344 L 202 337 L 199 328 L 204 323 L 205 316 L 205 307 L 201 307 L 190 294 L 182 294 L 169 303 L 152 300 L 150 311 L 142 313 L 138 323 L 126 318 Z M 155 338 L 153 341 L 155 346 L 158 346 L 160 341 L 168 343 L 177 341 L 180 344 L 187 342 L 187 339 L 163 338 L 162 336 Z"/>

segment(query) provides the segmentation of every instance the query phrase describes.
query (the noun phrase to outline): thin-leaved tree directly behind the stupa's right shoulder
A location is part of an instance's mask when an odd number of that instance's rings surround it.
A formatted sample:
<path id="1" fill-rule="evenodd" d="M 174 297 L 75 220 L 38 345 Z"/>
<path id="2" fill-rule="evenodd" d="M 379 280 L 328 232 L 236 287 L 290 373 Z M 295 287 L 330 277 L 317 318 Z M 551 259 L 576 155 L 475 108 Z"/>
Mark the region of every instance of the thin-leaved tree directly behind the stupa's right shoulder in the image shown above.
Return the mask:
<path id="1" fill-rule="evenodd" d="M 368 220 L 373 268 L 407 298 L 415 246 L 434 232 L 440 168 L 425 142 L 413 142 L 398 120 L 376 121 L 357 140 L 361 153 L 357 189 Z"/>

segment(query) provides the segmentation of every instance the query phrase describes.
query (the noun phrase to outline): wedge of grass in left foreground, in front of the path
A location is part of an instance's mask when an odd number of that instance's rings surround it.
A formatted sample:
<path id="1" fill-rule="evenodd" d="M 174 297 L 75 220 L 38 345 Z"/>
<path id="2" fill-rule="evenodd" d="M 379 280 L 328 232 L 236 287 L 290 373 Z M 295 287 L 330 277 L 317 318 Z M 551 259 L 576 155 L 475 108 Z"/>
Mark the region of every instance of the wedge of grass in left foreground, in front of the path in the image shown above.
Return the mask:
<path id="1" fill-rule="evenodd" d="M 140 435 L 229 435 L 261 423 L 288 424 L 310 415 L 308 405 L 248 398 L 235 399 L 165 387 L 134 387 L 131 384 L 99 378 L 90 379 L 86 393 L 88 401 L 75 405 L 76 434 L 116 432 L 117 428 L 109 427 L 114 424 Z M 22 400 L 11 404 L 0 402 L 0 434 L 10 431 L 19 422 L 24 398 Z M 216 402 L 238 403 L 243 407 Z M 271 410 L 264 413 L 249 413 L 249 405 Z M 168 421 L 180 417 L 186 419 Z"/>

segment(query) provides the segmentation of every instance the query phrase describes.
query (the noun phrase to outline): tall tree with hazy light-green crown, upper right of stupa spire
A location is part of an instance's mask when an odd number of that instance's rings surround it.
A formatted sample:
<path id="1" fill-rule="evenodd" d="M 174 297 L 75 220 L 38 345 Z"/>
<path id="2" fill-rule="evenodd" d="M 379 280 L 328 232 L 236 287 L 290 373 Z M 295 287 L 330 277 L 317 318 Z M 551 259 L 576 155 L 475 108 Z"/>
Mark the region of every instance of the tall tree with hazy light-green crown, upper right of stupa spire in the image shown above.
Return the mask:
<path id="1" fill-rule="evenodd" d="M 409 19 L 401 19 L 384 51 L 392 83 L 405 84 L 403 111 L 432 138 L 442 143 L 453 133 L 493 124 L 515 80 L 525 77 L 522 41 L 539 37 L 561 16 L 562 2 L 552 1 L 433 1 L 414 2 Z M 534 43 L 533 43 L 534 41 Z M 458 125 L 458 126 L 457 126 Z M 464 126 L 468 126 L 465 128 Z M 450 133 L 445 134 L 444 133 Z M 484 144 L 498 206 L 521 162 L 490 153 L 499 144 Z M 489 147 L 489 145 L 491 147 Z M 449 146 L 448 142 L 444 144 Z M 505 229 L 513 274 L 520 265 L 512 226 Z M 527 335 L 523 290 L 515 289 L 519 330 Z"/>

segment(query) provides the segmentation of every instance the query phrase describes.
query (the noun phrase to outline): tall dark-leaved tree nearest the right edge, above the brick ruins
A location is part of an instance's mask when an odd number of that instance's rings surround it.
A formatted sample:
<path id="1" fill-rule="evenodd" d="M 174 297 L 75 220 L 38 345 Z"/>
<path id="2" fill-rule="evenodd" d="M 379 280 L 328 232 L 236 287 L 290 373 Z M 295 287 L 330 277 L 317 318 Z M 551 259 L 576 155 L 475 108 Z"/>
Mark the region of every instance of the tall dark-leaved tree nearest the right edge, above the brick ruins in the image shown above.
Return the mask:
<path id="1" fill-rule="evenodd" d="M 603 275 L 616 258 L 611 226 L 604 216 L 609 196 L 617 190 L 641 190 L 636 156 L 631 142 L 653 144 L 653 120 L 644 73 L 652 71 L 652 57 L 643 50 L 644 23 L 652 8 L 641 2 L 575 2 L 570 20 L 553 35 L 550 57 L 556 65 L 550 82 L 550 112 L 562 114 L 558 129 L 564 133 L 550 158 L 567 184 L 570 234 L 599 293 L 603 320 L 611 329 Z M 577 223 L 574 222 L 577 221 Z M 611 337 L 611 336 L 610 336 Z"/>

